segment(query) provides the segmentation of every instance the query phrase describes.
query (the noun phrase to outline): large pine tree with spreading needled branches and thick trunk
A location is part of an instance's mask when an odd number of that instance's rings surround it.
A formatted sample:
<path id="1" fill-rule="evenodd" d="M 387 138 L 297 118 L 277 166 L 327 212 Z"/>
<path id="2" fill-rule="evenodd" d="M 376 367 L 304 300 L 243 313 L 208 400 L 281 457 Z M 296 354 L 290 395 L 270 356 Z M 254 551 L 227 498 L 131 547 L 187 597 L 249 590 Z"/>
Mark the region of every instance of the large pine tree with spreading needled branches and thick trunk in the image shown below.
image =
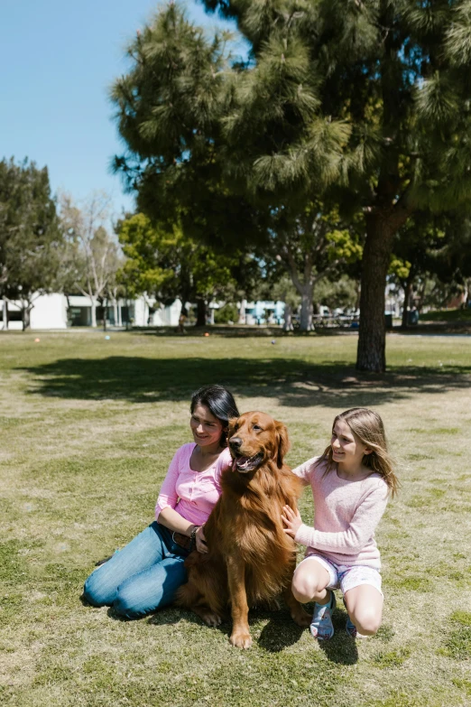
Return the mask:
<path id="1" fill-rule="evenodd" d="M 177 201 L 200 217 L 211 197 L 222 209 L 227 198 L 232 219 L 208 209 L 219 230 L 229 221 L 234 232 L 243 203 L 301 210 L 321 193 L 363 218 L 356 366 L 383 371 L 395 233 L 418 209 L 471 198 L 471 2 L 205 5 L 235 18 L 248 60 L 231 62 L 224 37 L 208 42 L 175 5 L 163 9 L 132 43 L 134 67 L 115 84 L 130 150 L 116 166 L 159 214 Z"/>

